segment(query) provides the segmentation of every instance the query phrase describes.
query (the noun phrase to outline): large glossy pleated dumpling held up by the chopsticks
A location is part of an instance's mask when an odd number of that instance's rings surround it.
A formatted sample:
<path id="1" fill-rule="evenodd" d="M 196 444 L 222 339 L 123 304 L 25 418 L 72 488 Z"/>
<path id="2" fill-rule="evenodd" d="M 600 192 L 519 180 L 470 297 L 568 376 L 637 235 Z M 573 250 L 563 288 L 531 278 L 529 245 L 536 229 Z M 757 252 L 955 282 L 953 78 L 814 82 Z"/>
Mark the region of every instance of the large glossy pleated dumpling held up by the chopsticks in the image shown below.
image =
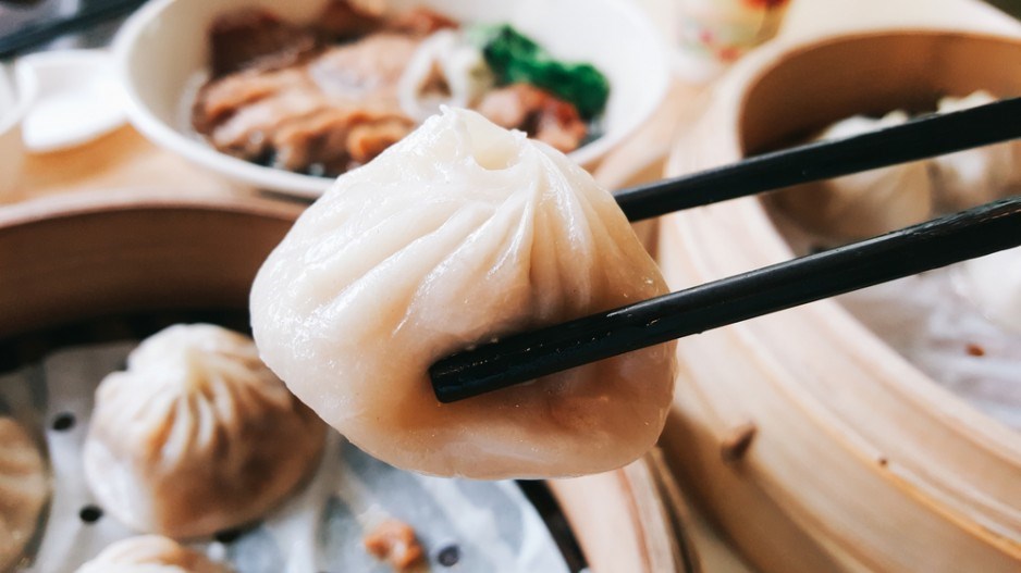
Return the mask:
<path id="1" fill-rule="evenodd" d="M 439 475 L 601 472 L 651 447 L 673 344 L 456 403 L 436 359 L 667 291 L 608 192 L 525 134 L 445 110 L 309 208 L 251 291 L 263 360 L 355 445 Z"/>

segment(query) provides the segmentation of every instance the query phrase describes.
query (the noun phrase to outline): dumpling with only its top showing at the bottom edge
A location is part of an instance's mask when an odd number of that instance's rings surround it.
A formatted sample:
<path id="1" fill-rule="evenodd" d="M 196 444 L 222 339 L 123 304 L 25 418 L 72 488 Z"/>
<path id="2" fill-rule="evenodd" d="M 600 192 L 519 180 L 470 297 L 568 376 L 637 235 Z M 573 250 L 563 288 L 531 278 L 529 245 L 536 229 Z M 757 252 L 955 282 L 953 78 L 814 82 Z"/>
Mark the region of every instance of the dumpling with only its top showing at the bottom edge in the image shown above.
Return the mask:
<path id="1" fill-rule="evenodd" d="M 144 535 L 111 544 L 75 573 L 230 573 L 230 569 L 173 539 Z"/>

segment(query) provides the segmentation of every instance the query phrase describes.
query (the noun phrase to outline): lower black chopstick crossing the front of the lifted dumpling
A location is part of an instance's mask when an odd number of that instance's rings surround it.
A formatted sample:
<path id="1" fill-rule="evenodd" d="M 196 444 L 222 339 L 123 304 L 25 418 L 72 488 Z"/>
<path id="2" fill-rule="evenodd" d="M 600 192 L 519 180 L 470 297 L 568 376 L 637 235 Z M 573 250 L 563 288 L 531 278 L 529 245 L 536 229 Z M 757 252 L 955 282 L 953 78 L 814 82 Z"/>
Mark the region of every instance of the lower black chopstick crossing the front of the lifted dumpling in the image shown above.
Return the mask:
<path id="1" fill-rule="evenodd" d="M 429 369 L 451 402 L 639 348 L 1021 245 L 1021 197 L 508 336 Z"/>

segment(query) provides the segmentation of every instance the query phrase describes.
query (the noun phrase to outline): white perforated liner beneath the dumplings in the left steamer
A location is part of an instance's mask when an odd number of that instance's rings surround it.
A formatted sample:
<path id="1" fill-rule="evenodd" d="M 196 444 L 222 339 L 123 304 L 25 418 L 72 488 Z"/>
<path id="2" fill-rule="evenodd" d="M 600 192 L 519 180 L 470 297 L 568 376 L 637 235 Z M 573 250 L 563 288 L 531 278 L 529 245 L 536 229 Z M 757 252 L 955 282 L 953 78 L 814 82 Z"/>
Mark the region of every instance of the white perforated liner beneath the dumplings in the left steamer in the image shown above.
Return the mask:
<path id="1" fill-rule="evenodd" d="M 36 422 L 52 469 L 45 534 L 26 572 L 72 572 L 134 533 L 102 512 L 85 483 L 81 454 L 96 385 L 104 373 L 123 369 L 136 345 L 74 345 L 0 377 L 0 409 Z M 539 511 L 514 482 L 403 472 L 335 432 L 315 476 L 293 498 L 258 523 L 192 545 L 238 573 L 385 572 L 391 568 L 371 557 L 361 539 L 386 518 L 415 528 L 435 571 L 454 564 L 454 571 L 569 571 Z"/>

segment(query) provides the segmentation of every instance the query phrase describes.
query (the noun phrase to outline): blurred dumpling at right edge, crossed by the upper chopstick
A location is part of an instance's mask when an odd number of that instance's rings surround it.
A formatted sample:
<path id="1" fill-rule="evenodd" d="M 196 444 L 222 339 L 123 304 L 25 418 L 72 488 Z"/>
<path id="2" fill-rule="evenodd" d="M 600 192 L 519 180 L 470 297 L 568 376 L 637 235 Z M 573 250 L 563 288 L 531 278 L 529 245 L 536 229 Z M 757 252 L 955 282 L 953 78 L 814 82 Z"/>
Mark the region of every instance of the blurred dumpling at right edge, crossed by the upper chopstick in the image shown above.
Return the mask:
<path id="1" fill-rule="evenodd" d="M 967 110 L 996 98 L 975 91 L 963 98 L 939 100 L 939 113 Z M 1021 141 L 967 149 L 932 160 L 936 208 L 960 211 L 1021 191 Z"/>

